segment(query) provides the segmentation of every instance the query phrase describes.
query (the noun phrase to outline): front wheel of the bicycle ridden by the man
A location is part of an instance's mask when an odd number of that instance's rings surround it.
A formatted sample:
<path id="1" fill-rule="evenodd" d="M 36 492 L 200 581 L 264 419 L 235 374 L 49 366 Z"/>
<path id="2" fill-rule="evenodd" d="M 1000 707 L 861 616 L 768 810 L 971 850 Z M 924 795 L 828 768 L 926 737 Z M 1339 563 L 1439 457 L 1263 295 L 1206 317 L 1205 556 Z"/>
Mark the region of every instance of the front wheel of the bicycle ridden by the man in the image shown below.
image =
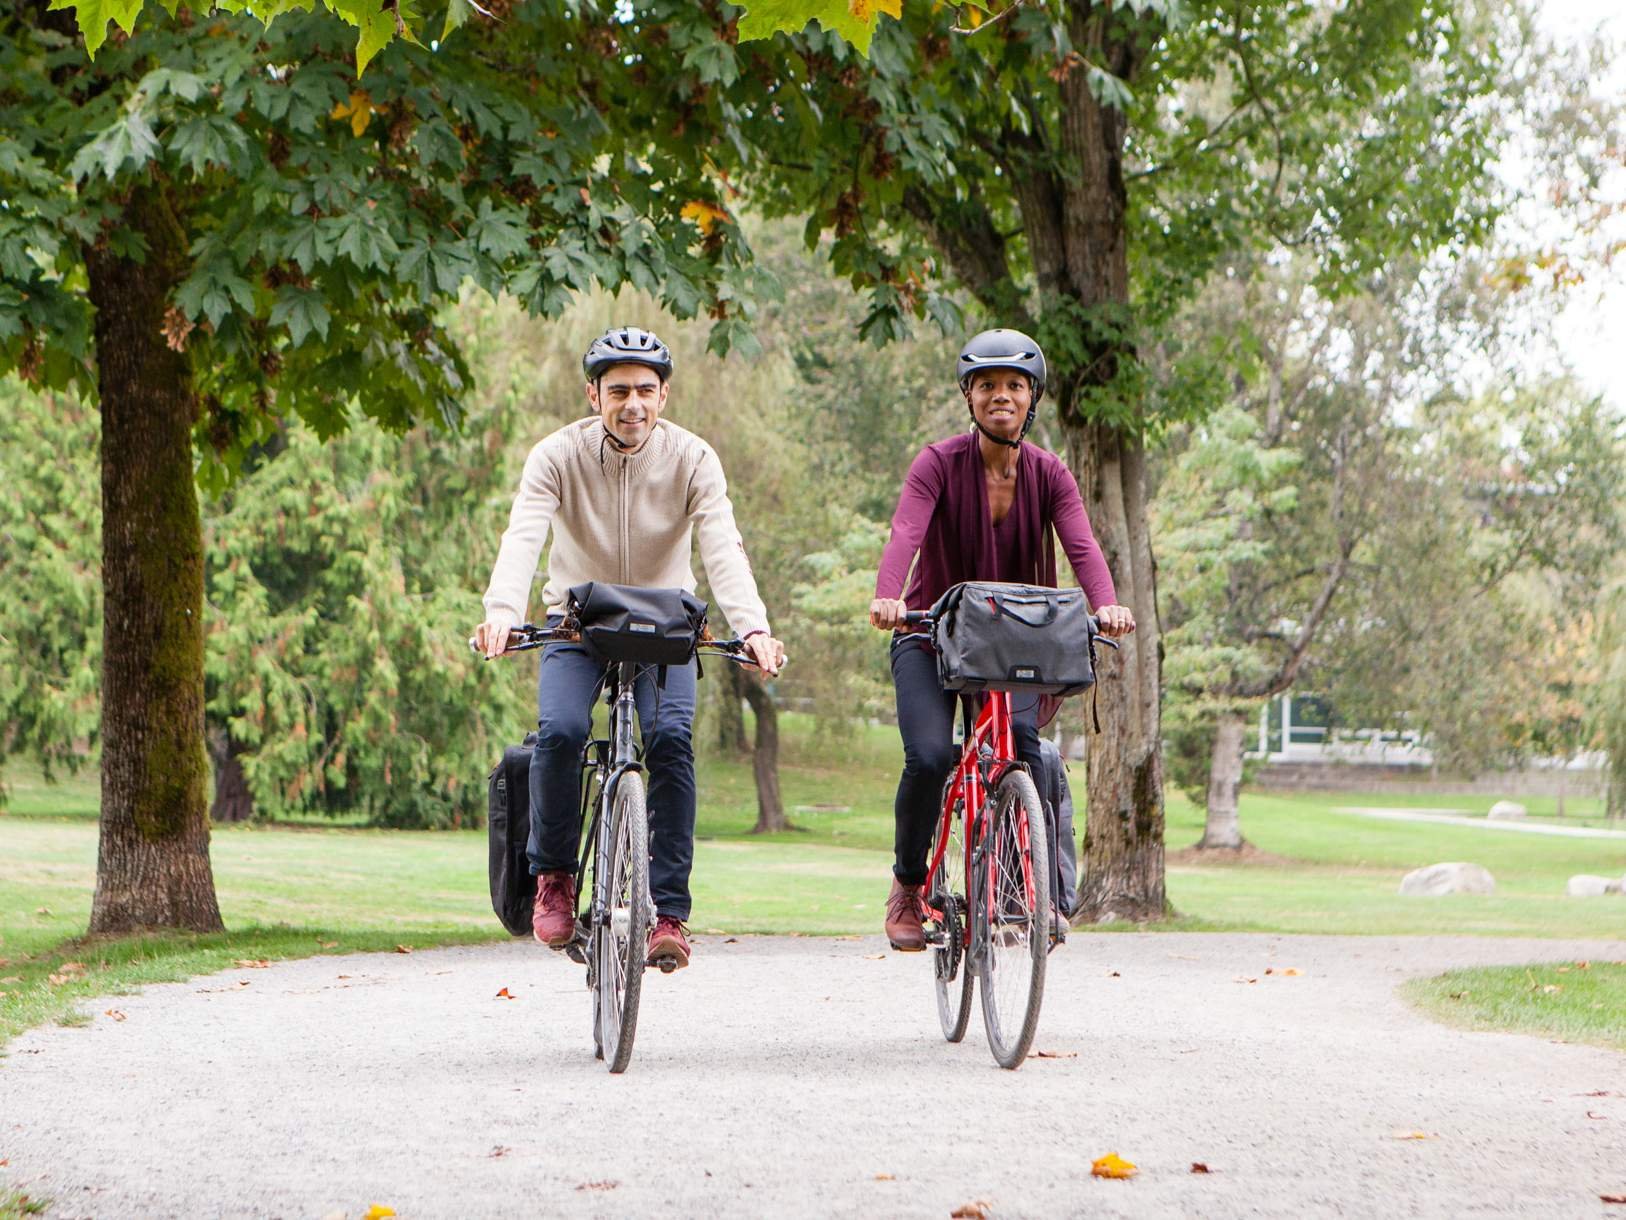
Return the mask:
<path id="1" fill-rule="evenodd" d="M 593 1007 L 605 1067 L 624 1072 L 637 1033 L 637 999 L 654 904 L 649 900 L 649 820 L 644 778 L 628 771 L 616 782 L 610 810 L 603 878 L 593 891 Z"/>

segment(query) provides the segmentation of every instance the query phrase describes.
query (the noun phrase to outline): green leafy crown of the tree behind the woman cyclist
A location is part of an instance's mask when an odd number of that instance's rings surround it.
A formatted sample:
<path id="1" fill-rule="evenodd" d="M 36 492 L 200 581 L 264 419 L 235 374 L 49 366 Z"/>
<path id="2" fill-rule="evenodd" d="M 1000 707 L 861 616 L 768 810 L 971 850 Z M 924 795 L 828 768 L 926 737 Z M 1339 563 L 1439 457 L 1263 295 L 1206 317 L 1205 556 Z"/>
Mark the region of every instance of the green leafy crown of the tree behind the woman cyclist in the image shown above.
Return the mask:
<path id="1" fill-rule="evenodd" d="M 1397 252 L 1475 239 L 1498 207 L 1480 169 L 1502 130 L 1504 31 L 1460 5 L 1050 0 L 976 34 L 954 33 L 961 11 L 906 5 L 863 70 L 828 33 L 776 36 L 741 73 L 772 81 L 745 127 L 745 182 L 811 213 L 810 242 L 833 236 L 837 272 L 868 294 L 863 333 L 951 329 L 938 291 L 958 281 L 1039 333 L 1059 410 L 1156 431 L 1213 408 L 1246 335 L 1187 350 L 1185 379 L 1154 399 L 1133 353 L 1224 257 L 1291 241 L 1340 291 Z M 1067 132 L 1098 122 L 1102 140 L 1127 124 L 1127 299 L 1073 249 L 1080 192 L 1107 171 Z"/>

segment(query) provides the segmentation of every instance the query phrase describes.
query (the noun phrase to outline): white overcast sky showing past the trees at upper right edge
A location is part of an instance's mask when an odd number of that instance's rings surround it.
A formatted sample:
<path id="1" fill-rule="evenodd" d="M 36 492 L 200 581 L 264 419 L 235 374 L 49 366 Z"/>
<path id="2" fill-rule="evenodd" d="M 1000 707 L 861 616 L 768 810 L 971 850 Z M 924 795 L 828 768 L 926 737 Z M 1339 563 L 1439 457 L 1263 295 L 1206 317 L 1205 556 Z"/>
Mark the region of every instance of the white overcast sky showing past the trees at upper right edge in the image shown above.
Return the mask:
<path id="1" fill-rule="evenodd" d="M 1541 18 L 1554 34 L 1587 37 L 1602 28 L 1626 47 L 1626 0 L 1541 0 Z M 1626 59 L 1610 86 L 1626 93 Z M 1608 189 L 1626 197 L 1626 166 Z M 1626 239 L 1626 218 L 1616 221 L 1616 236 Z M 1559 348 L 1584 381 L 1626 410 L 1626 257 L 1576 293 L 1563 314 Z"/>

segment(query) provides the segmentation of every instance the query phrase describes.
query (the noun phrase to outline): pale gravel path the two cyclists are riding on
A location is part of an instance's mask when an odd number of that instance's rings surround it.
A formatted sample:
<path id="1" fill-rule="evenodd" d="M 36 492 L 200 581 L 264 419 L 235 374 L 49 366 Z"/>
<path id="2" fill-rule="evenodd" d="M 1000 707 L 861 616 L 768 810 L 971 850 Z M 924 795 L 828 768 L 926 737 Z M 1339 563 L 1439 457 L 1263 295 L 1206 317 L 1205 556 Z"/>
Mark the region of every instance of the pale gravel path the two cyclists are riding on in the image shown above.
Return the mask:
<path id="1" fill-rule="evenodd" d="M 104 1218 L 1626 1215 L 1626 1056 L 1395 996 L 1626 940 L 1075 935 L 1020 1072 L 883 948 L 702 937 L 624 1077 L 525 942 L 154 986 L 7 1048 L 0 1186 Z M 1107 1152 L 1140 1174 L 1093 1179 Z"/>

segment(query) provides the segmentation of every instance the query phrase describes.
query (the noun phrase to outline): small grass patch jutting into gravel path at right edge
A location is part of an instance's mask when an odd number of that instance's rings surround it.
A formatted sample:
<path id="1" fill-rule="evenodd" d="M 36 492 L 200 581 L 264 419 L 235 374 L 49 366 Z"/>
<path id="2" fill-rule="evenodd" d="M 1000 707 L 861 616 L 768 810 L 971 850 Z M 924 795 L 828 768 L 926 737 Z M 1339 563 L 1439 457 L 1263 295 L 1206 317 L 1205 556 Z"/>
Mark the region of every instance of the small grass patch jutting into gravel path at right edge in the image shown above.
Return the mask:
<path id="1" fill-rule="evenodd" d="M 1450 969 L 1403 994 L 1447 1025 L 1626 1051 L 1626 961 Z"/>

